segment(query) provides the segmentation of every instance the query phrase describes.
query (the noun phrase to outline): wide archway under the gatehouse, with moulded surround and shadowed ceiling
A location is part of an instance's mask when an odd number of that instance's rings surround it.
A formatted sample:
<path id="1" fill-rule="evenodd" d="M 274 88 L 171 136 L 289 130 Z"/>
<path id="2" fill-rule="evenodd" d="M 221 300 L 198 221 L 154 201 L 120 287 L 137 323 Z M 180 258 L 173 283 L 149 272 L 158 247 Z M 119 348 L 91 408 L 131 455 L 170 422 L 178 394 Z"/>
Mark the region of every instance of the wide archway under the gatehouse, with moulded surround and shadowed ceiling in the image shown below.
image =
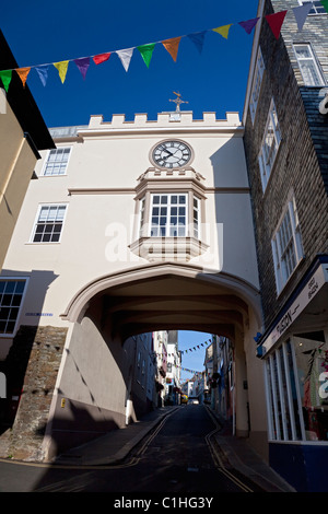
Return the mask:
<path id="1" fill-rule="evenodd" d="M 108 274 L 79 291 L 62 318 L 72 329 L 57 379 L 44 452 L 54 454 L 60 431 L 79 419 L 105 430 L 126 422 L 127 369 L 131 366 L 131 336 L 163 329 L 188 329 L 226 336 L 236 342 L 238 383 L 247 375 L 244 341 L 259 328 L 258 291 L 226 273 L 204 273 L 189 265 L 150 265 Z M 125 354 L 124 354 L 125 353 Z M 108 394 L 110 390 L 110 395 Z M 66 398 L 70 410 L 60 408 Z M 237 432 L 247 431 L 245 392 L 236 398 Z M 62 422 L 61 422 L 62 421 Z M 95 434 L 96 435 L 96 434 Z M 59 437 L 59 439 L 58 439 Z M 60 444 L 59 444 L 60 445 Z M 56 452 L 56 451 L 55 451 Z"/>

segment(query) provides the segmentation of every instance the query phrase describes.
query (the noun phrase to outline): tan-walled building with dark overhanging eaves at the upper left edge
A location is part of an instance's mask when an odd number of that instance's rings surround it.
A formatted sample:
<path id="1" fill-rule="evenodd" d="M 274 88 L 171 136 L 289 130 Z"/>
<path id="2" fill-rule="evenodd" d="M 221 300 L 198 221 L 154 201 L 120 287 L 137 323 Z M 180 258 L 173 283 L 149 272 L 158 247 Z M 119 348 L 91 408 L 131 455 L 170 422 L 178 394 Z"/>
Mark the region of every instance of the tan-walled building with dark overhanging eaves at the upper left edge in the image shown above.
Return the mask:
<path id="1" fill-rule="evenodd" d="M 17 68 L 1 31 L 0 45 L 0 69 Z M 0 87 L 0 269 L 39 151 L 51 148 L 55 143 L 28 87 L 13 73 L 9 91 Z"/>

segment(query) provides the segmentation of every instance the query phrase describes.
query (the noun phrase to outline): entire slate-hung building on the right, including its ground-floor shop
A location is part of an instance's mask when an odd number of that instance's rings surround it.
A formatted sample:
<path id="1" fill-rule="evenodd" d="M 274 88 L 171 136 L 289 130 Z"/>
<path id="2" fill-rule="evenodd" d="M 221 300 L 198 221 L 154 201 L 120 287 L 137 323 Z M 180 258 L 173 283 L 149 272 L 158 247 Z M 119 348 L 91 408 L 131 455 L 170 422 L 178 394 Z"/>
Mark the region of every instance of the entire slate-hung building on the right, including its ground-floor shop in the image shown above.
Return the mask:
<path id="1" fill-rule="evenodd" d="M 311 8 L 300 30 L 293 8 Z M 270 464 L 325 491 L 328 457 L 328 14 L 320 2 L 260 1 L 245 151 L 263 330 Z M 266 15 L 286 11 L 276 38 Z M 326 384 L 325 384 L 326 383 Z"/>

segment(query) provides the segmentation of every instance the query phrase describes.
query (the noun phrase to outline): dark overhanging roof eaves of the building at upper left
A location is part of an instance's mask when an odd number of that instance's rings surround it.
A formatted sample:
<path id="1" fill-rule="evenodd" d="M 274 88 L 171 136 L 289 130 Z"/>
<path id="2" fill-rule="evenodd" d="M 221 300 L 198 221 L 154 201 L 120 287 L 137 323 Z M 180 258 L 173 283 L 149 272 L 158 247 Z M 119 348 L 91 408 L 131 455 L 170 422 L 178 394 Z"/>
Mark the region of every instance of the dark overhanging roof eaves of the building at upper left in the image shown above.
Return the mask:
<path id="1" fill-rule="evenodd" d="M 1 31 L 0 48 L 0 70 L 12 70 L 19 68 L 19 65 Z M 27 132 L 37 150 L 56 148 L 28 86 L 25 85 L 25 87 L 23 87 L 22 81 L 16 73 L 12 74 L 12 80 L 7 93 L 7 100 L 20 122 L 23 132 Z"/>

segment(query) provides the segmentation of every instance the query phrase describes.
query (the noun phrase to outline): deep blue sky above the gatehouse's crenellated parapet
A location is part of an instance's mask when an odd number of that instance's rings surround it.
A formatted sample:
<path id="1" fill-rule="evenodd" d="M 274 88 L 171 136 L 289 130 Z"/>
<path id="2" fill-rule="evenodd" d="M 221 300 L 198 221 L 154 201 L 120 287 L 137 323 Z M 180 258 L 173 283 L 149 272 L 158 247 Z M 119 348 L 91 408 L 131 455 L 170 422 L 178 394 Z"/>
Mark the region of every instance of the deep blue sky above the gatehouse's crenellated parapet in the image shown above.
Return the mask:
<path id="1" fill-rule="evenodd" d="M 103 65 L 91 63 L 85 80 L 70 63 L 65 83 L 50 67 L 43 86 L 35 70 L 27 84 L 49 127 L 85 125 L 90 115 L 173 110 L 174 91 L 181 93 L 200 119 L 203 112 L 225 118 L 227 110 L 243 113 L 253 33 L 237 25 L 257 14 L 258 0 L 15 0 L 1 9 L 1 30 L 20 67 L 52 63 L 105 51 L 157 43 L 233 24 L 229 38 L 209 32 L 202 52 L 183 37 L 177 61 L 156 44 L 150 67 L 138 50 L 125 71 L 113 54 Z"/>

